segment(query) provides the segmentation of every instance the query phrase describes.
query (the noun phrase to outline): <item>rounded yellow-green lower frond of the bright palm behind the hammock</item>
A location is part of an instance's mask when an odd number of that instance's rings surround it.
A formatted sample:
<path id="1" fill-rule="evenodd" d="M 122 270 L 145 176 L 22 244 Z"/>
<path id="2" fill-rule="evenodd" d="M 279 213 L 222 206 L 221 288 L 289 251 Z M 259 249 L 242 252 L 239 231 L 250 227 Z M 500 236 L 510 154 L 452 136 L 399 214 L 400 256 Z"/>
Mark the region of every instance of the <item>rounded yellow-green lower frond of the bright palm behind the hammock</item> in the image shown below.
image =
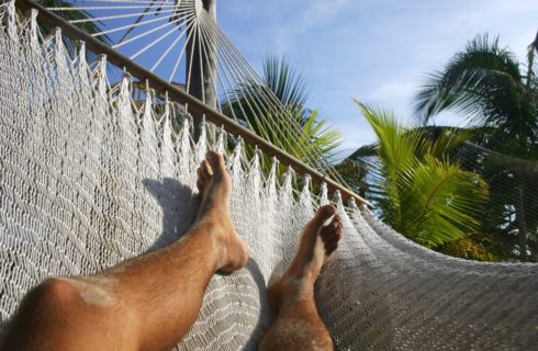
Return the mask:
<path id="1" fill-rule="evenodd" d="M 410 236 L 436 247 L 475 233 L 478 214 L 487 196 L 485 182 L 459 165 L 428 156 L 401 181 L 408 190 L 402 211 Z"/>

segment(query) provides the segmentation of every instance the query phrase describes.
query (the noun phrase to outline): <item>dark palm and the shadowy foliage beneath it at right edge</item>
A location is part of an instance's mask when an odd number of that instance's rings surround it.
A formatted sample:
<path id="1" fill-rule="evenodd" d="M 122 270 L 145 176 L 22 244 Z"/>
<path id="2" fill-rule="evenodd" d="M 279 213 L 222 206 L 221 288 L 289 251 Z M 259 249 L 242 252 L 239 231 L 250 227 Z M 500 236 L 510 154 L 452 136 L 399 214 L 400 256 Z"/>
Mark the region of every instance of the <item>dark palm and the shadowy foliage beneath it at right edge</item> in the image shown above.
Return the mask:
<path id="1" fill-rule="evenodd" d="M 533 167 L 524 166 L 536 166 L 538 160 L 537 49 L 535 39 L 524 71 L 497 37 L 479 35 L 442 70 L 429 76 L 415 100 L 424 124 L 451 110 L 473 125 L 473 145 L 459 152 L 464 156 L 470 147 L 482 147 L 486 157 L 460 158 L 460 162 L 490 184 L 482 231 L 496 238 L 497 247 L 506 245 L 508 249 L 498 254 L 507 260 L 538 258 L 538 171 L 529 172 Z"/>

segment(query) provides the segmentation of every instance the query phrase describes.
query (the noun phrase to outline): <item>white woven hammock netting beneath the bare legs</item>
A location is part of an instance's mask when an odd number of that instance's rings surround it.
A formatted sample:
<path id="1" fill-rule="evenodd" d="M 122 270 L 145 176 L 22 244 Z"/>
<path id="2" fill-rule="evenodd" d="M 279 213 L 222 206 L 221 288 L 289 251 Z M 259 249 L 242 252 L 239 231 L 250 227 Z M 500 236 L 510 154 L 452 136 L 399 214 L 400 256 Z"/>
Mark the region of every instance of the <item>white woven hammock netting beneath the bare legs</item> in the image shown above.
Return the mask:
<path id="1" fill-rule="evenodd" d="M 272 320 L 266 285 L 292 258 L 302 226 L 328 202 L 296 191 L 290 170 L 266 176 L 260 155 L 218 133 L 198 143 L 184 110 L 128 77 L 111 86 L 105 60 L 61 33 L 42 37 L 35 13 L 0 7 L 0 317 L 54 275 L 91 274 L 179 238 L 193 220 L 195 169 L 226 155 L 232 216 L 251 258 L 215 275 L 178 350 L 256 349 Z M 172 126 L 181 121 L 181 128 Z M 202 126 L 203 127 L 203 126 Z M 538 269 L 446 257 L 405 239 L 368 210 L 334 201 L 345 235 L 316 283 L 320 313 L 341 350 L 530 350 L 538 344 Z"/>

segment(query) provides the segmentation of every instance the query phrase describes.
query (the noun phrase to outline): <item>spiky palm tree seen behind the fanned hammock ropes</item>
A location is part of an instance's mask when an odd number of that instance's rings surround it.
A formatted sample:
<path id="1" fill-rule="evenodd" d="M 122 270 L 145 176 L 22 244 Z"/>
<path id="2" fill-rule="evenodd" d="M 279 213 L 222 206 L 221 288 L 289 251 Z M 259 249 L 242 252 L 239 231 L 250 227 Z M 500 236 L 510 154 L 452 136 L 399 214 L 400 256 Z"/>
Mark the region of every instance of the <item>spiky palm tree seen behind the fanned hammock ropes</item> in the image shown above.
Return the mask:
<path id="1" fill-rule="evenodd" d="M 306 84 L 283 58 L 265 59 L 262 80 L 265 84 L 245 83 L 228 92 L 223 112 L 236 116 L 288 154 L 323 170 L 327 160 L 336 156 L 340 133 L 326 120 L 320 121 L 317 111 L 306 107 Z M 267 99 L 268 95 L 274 99 Z M 313 160 L 313 156 L 317 159 Z"/>

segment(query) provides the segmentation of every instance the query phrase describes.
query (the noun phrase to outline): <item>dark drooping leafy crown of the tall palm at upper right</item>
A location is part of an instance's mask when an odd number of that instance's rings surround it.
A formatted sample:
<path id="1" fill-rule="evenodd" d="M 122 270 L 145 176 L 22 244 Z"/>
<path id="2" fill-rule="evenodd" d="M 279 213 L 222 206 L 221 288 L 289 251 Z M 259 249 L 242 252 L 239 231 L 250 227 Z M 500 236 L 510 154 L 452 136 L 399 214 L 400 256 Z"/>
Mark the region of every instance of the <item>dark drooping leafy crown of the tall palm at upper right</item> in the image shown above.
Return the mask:
<path id="1" fill-rule="evenodd" d="M 536 76 L 525 77 L 519 68 L 497 37 L 490 41 L 487 35 L 479 35 L 442 70 L 428 77 L 415 95 L 415 111 L 426 124 L 439 112 L 452 110 L 471 123 L 495 127 L 524 145 L 536 139 L 538 111 L 536 91 L 531 90 L 536 88 Z"/>

